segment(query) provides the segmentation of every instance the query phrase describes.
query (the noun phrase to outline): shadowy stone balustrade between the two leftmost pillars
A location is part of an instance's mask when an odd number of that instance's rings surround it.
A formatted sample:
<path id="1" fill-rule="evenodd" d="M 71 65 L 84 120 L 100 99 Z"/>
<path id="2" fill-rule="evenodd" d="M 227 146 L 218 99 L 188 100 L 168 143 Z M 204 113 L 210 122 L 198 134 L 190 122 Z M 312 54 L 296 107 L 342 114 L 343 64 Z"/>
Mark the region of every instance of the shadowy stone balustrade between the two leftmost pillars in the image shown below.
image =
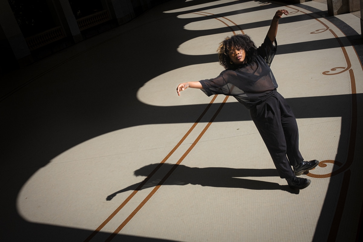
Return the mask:
<path id="1" fill-rule="evenodd" d="M 59 26 L 53 29 L 48 29 L 34 36 L 25 38 L 25 41 L 30 50 L 35 50 L 54 41 L 60 40 L 64 37 L 65 34 L 63 33 L 62 27 Z"/>

